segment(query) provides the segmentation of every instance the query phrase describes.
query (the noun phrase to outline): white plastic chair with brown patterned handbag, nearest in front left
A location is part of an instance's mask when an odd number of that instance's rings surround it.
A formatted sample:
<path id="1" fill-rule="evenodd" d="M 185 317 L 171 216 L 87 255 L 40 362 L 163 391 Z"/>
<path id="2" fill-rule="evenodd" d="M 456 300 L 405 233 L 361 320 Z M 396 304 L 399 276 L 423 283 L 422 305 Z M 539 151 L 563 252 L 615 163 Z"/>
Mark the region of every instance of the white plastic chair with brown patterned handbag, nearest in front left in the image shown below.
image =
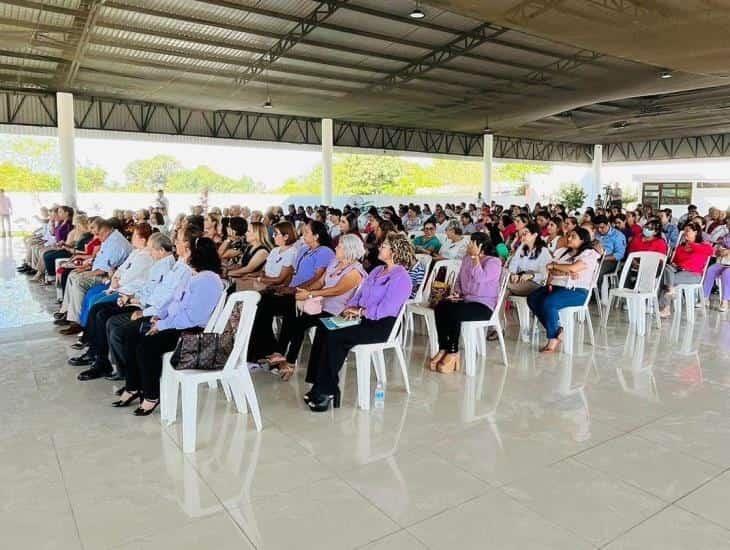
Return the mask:
<path id="1" fill-rule="evenodd" d="M 195 441 L 197 433 L 198 416 L 198 386 L 200 384 L 219 380 L 223 387 L 231 391 L 236 408 L 239 413 L 247 412 L 247 403 L 256 423 L 256 429 L 261 431 L 261 411 L 259 409 L 256 390 L 253 387 L 251 375 L 246 367 L 246 354 L 248 343 L 251 337 L 256 308 L 261 300 L 258 292 L 249 290 L 236 292 L 230 296 L 225 309 L 218 316 L 211 332 L 222 333 L 228 319 L 231 316 L 233 307 L 241 303 L 241 322 L 236 330 L 233 351 L 228 356 L 222 370 L 175 370 L 170 364 L 172 353 L 166 353 L 163 357 L 162 379 L 160 381 L 160 411 L 161 420 L 164 424 L 170 425 L 177 419 L 177 397 L 178 388 L 182 386 L 182 434 L 183 452 L 195 452 Z M 243 368 L 238 368 L 243 363 Z"/>

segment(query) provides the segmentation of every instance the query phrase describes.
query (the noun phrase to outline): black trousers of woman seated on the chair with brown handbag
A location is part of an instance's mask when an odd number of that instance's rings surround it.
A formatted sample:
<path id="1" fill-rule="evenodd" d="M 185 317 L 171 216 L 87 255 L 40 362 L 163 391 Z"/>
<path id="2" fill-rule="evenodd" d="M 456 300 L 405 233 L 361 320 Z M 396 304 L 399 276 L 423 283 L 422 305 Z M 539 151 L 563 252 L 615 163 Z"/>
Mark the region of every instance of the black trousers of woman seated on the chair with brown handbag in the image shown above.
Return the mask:
<path id="1" fill-rule="evenodd" d="M 137 338 L 136 361 L 126 365 L 127 391 L 141 391 L 144 398 L 151 401 L 160 398 L 162 356 L 175 349 L 181 333 L 180 330 L 169 329 Z"/>

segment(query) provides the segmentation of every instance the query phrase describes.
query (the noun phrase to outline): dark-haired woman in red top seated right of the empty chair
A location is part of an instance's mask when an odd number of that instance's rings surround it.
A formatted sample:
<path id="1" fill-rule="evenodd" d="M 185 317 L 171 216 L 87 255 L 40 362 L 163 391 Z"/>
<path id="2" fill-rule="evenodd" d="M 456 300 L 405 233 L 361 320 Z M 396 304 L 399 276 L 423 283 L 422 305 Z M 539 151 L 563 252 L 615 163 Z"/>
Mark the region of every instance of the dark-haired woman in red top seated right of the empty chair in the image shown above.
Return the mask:
<path id="1" fill-rule="evenodd" d="M 683 239 L 674 253 L 674 258 L 664 270 L 664 280 L 659 291 L 661 317 L 671 315 L 669 299 L 674 296 L 674 286 L 679 284 L 699 284 L 705 271 L 707 260 L 712 256 L 712 245 L 702 241 L 702 228 L 697 222 L 684 226 Z"/>

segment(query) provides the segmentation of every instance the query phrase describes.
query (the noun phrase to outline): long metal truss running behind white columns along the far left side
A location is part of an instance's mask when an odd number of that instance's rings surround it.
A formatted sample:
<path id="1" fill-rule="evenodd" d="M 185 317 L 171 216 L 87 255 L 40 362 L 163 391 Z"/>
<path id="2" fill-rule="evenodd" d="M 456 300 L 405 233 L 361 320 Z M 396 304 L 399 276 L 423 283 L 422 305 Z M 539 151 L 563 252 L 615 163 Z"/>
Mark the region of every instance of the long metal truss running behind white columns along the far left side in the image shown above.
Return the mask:
<path id="1" fill-rule="evenodd" d="M 22 109 L 28 105 L 28 109 Z M 160 103 L 75 96 L 76 127 L 235 140 L 321 145 L 321 120 L 270 113 L 206 111 Z M 114 114 L 115 116 L 112 116 Z M 54 95 L 0 91 L 0 124 L 55 126 Z M 481 134 L 334 121 L 336 147 L 481 157 Z M 590 162 L 591 147 L 576 143 L 495 136 L 498 158 Z"/>

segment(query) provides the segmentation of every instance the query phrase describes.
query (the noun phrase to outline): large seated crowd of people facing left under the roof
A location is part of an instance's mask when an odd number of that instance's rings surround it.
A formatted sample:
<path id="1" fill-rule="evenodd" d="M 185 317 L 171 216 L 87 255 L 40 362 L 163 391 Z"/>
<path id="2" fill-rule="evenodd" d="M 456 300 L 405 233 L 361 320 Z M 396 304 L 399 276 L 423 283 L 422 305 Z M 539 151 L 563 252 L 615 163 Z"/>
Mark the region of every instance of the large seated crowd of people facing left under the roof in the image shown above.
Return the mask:
<path id="1" fill-rule="evenodd" d="M 109 219 L 54 206 L 41 210 L 41 222 L 26 239 L 18 271 L 55 284 L 54 323 L 77 335 L 72 347 L 83 352 L 69 362 L 87 367 L 78 379 L 124 380 L 113 404 L 139 401 L 138 416 L 159 404 L 163 354 L 183 331 L 204 328 L 225 294 L 237 290 L 261 294 L 251 365 L 288 380 L 312 331 L 305 395 L 312 411 L 339 406 L 347 353 L 388 338 L 429 278 L 431 259 L 458 262 L 455 278 L 442 281 L 443 295 L 425 297 L 439 348 L 429 367 L 442 373 L 460 368 L 461 323 L 495 313 L 503 273 L 508 292 L 525 297 L 545 328 L 544 352 L 560 345 L 560 310 L 585 303 L 593 285 L 601 288 L 633 252 L 668 257 L 661 316 L 671 315 L 674 287 L 699 283 L 706 269 L 705 296 L 717 285 L 718 309 L 730 304 L 730 215 L 713 208 L 701 216 L 692 205 L 677 220 L 671 210 L 649 206 L 581 215 L 560 204 L 462 203 L 365 212 L 289 205 L 286 213 L 196 206 L 170 221 L 159 201 Z M 358 322 L 329 330 L 328 317 Z"/>

